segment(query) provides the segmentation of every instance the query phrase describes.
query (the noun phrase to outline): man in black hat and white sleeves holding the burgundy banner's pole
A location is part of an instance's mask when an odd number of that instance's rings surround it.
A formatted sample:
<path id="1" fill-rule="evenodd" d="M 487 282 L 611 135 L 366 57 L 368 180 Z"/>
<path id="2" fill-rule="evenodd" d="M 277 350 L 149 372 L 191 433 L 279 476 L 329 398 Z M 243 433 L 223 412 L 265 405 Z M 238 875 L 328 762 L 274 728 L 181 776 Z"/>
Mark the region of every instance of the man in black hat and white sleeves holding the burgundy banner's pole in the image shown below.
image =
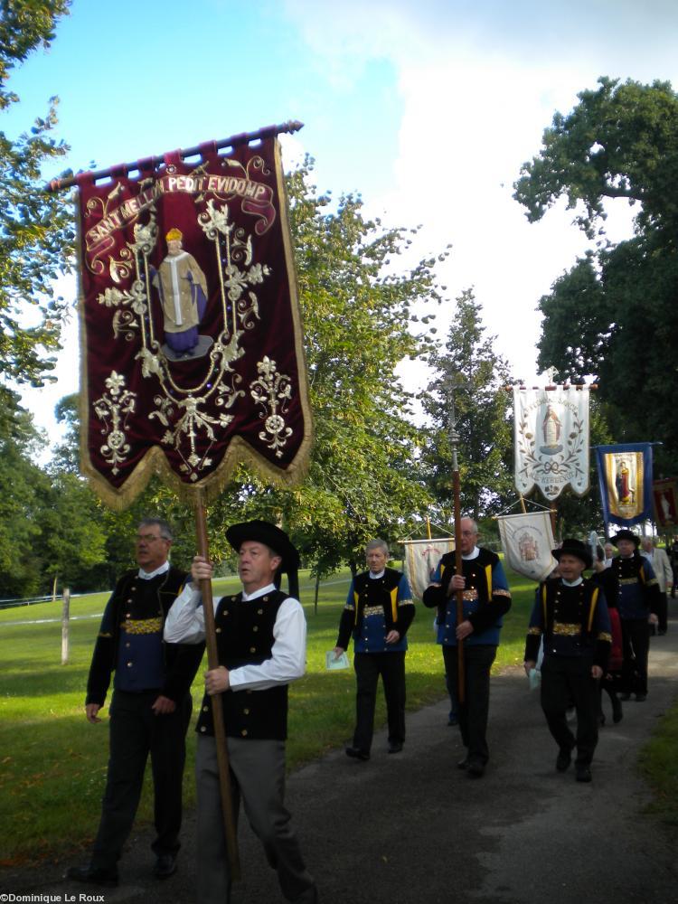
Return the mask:
<path id="1" fill-rule="evenodd" d="M 265 521 L 234 524 L 226 537 L 238 553 L 243 589 L 214 600 L 220 665 L 205 673 L 195 762 L 198 901 L 231 901 L 209 699 L 221 694 L 235 812 L 242 797 L 268 862 L 278 871 L 284 897 L 298 904 L 315 904 L 315 880 L 306 871 L 283 803 L 287 685 L 305 671 L 306 619 L 298 599 L 277 586 L 280 573 L 285 571 L 291 593 L 297 594 L 299 556 L 287 533 Z M 194 584 L 184 589 L 170 610 L 166 640 L 202 642 L 202 597 L 193 587 L 200 580 L 212 578 L 212 565 L 196 556 L 192 575 Z"/>

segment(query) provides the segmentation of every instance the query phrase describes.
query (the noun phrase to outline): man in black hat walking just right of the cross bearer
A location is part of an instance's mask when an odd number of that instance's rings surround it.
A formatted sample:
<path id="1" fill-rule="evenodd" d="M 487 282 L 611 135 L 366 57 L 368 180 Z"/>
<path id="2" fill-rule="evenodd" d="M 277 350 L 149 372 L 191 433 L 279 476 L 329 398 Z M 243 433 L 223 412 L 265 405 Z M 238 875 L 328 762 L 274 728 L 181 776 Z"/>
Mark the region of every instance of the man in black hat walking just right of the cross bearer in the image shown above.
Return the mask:
<path id="1" fill-rule="evenodd" d="M 601 589 L 582 577 L 591 567 L 586 543 L 564 540 L 553 550 L 560 579 L 542 581 L 537 590 L 525 643 L 525 673 L 537 663 L 543 640 L 541 708 L 559 747 L 556 768 L 564 772 L 577 748 L 578 782 L 591 780 L 591 760 L 598 744 L 598 681 L 607 669 L 612 636 Z M 577 738 L 567 710 L 577 709 Z"/>

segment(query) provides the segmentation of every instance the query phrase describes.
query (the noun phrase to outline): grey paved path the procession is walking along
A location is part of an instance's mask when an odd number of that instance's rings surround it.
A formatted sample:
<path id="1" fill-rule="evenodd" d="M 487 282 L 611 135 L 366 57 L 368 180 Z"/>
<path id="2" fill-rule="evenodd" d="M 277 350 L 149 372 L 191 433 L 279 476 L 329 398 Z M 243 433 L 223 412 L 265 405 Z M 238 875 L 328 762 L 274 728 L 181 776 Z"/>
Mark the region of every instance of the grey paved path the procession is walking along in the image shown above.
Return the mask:
<path id="1" fill-rule="evenodd" d="M 337 750 L 298 770 L 287 803 L 322 904 L 678 902 L 672 839 L 645 815 L 650 796 L 635 768 L 638 749 L 678 694 L 676 605 L 669 634 L 653 641 L 650 695 L 625 703 L 624 720 L 601 730 L 591 785 L 577 783 L 572 769 L 555 771 L 557 750 L 517 666 L 493 679 L 492 760 L 482 779 L 455 768 L 463 750 L 444 703 L 410 716 L 398 756 L 386 753 L 381 732 L 369 763 Z M 607 698 L 606 705 L 610 720 Z M 149 878 L 150 838 L 138 833 L 121 863 L 123 884 L 99 900 L 192 904 L 193 824 L 189 815 L 172 879 Z M 240 858 L 245 879 L 233 904 L 281 902 L 244 818 Z M 30 901 L 99 893 L 61 880 L 67 865 L 5 871 L 0 886 Z"/>

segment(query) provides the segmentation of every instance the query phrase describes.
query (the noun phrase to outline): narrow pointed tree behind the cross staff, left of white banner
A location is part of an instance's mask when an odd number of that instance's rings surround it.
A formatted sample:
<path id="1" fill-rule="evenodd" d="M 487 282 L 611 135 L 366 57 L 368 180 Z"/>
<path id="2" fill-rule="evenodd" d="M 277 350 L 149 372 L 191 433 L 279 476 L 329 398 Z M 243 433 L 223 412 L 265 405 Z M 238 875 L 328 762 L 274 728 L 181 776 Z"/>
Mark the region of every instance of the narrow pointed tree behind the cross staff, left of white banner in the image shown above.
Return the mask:
<path id="1" fill-rule="evenodd" d="M 461 384 L 454 405 L 462 510 L 477 520 L 496 512 L 512 493 L 510 398 L 504 390 L 510 377 L 494 338 L 485 335 L 482 307 L 466 289 L 457 298 L 445 347 L 429 358 L 436 376 L 424 396 L 433 424 L 425 460 L 441 521 L 449 522 L 453 511 L 449 391 L 455 384 Z"/>

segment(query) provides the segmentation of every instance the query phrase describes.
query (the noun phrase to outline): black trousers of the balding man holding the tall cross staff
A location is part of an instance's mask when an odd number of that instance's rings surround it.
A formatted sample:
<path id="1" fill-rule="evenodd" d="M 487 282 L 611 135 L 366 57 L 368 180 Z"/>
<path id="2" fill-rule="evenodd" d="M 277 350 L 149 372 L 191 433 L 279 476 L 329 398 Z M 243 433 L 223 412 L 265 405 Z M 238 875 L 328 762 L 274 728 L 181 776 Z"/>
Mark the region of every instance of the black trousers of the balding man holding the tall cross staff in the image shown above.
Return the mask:
<path id="1" fill-rule="evenodd" d="M 490 670 L 496 656 L 492 644 L 466 644 L 464 647 L 465 701 L 459 702 L 457 647 L 443 645 L 447 680 L 457 699 L 457 718 L 468 758 L 485 766 L 490 758 L 487 747 L 487 716 L 490 710 Z"/>

